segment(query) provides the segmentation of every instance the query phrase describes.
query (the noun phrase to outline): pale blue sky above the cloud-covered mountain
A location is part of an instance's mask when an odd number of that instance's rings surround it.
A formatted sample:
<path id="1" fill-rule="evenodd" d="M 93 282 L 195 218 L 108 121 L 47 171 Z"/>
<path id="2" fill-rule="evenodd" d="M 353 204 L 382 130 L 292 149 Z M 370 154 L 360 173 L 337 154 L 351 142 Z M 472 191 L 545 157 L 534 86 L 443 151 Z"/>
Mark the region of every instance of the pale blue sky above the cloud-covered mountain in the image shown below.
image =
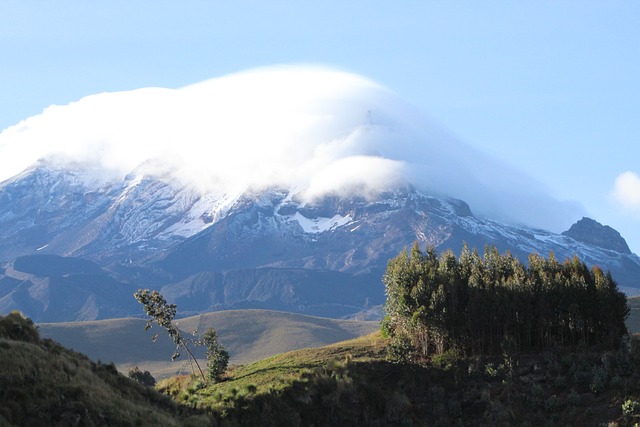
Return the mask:
<path id="1" fill-rule="evenodd" d="M 640 253 L 639 19 L 636 1 L 5 0 L 0 129 L 93 93 L 329 65 L 578 201 Z"/>

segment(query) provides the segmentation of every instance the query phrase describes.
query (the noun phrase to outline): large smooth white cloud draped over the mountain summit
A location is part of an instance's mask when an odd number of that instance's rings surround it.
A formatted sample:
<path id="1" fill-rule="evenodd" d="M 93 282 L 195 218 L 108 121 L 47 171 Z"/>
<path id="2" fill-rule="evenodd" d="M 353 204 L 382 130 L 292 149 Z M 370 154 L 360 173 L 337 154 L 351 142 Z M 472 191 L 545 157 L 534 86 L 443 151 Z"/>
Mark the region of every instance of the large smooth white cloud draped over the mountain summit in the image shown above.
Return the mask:
<path id="1" fill-rule="evenodd" d="M 104 179 L 169 174 L 203 193 L 275 185 L 315 197 L 411 183 L 476 213 L 554 231 L 580 214 L 391 91 L 321 67 L 91 95 L 0 134 L 0 181 L 40 159 L 84 165 Z"/>

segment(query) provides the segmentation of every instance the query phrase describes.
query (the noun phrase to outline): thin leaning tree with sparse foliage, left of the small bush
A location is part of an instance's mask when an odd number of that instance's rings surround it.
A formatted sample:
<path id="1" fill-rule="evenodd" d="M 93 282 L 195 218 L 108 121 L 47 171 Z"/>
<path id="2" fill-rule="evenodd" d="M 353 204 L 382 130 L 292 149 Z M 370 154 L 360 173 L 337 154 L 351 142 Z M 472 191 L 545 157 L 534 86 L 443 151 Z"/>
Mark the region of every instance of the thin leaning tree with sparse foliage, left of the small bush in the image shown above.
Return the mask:
<path id="1" fill-rule="evenodd" d="M 195 363 L 198 367 L 198 371 L 200 372 L 200 376 L 204 380 L 205 378 L 202 368 L 200 368 L 200 364 L 189 348 L 189 340 L 187 340 L 173 324 L 173 318 L 176 316 L 176 305 L 167 303 L 158 291 L 150 291 L 149 289 L 139 289 L 138 292 L 133 294 L 133 296 L 140 304 L 142 304 L 145 313 L 149 316 L 149 320 L 147 320 L 144 330 L 149 330 L 154 322 L 157 323 L 158 326 L 164 328 L 169 334 L 169 337 L 173 340 L 173 343 L 176 345 L 176 350 L 173 353 L 173 356 L 171 356 L 171 360 L 176 360 L 180 357 L 180 349 L 183 349 L 187 352 L 189 357 L 191 370 L 193 371 L 193 364 Z M 151 337 L 151 340 L 155 342 L 157 338 L 158 334 L 154 334 Z M 195 342 L 194 345 L 198 345 L 198 343 Z"/>

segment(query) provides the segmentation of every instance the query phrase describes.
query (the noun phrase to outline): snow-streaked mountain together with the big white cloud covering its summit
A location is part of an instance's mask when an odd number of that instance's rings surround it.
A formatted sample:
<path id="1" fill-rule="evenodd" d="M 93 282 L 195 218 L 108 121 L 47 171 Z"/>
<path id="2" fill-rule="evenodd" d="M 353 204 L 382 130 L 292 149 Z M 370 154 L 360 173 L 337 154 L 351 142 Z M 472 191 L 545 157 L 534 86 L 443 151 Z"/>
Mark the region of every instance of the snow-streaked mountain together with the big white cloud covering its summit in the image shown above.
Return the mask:
<path id="1" fill-rule="evenodd" d="M 636 293 L 615 232 L 544 231 L 580 214 L 343 71 L 90 95 L 0 133 L 0 312 L 139 314 L 130 295 L 153 287 L 183 312 L 376 315 L 387 261 L 416 240 L 577 254 Z"/>

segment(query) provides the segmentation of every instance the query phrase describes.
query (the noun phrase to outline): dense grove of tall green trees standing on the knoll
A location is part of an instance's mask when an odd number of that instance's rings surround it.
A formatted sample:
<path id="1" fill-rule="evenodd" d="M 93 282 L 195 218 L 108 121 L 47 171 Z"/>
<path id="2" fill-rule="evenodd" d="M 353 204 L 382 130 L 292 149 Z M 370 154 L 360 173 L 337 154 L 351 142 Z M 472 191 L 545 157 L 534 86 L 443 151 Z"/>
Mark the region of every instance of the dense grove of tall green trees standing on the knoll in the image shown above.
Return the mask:
<path id="1" fill-rule="evenodd" d="M 422 252 L 417 243 L 384 275 L 386 317 L 395 357 L 426 358 L 454 349 L 467 355 L 553 346 L 617 348 L 627 333 L 625 295 L 610 273 L 576 256 L 558 262 L 530 255 L 524 265 L 495 247 L 465 245 L 460 257 Z"/>

